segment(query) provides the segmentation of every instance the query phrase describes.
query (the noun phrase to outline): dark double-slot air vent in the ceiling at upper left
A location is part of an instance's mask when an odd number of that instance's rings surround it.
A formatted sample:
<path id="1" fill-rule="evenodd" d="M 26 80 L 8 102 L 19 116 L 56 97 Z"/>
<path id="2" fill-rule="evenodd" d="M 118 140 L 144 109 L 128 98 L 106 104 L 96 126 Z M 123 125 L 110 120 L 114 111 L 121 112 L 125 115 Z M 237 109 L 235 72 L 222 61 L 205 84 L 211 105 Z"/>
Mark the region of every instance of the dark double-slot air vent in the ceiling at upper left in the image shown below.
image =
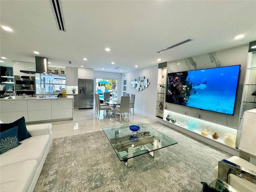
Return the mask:
<path id="1" fill-rule="evenodd" d="M 58 26 L 58 30 L 60 31 L 66 31 L 65 30 L 65 23 L 64 23 L 64 16 L 61 6 L 60 0 L 49 0 L 52 12 L 54 15 L 54 19 L 56 21 L 56 24 Z"/>

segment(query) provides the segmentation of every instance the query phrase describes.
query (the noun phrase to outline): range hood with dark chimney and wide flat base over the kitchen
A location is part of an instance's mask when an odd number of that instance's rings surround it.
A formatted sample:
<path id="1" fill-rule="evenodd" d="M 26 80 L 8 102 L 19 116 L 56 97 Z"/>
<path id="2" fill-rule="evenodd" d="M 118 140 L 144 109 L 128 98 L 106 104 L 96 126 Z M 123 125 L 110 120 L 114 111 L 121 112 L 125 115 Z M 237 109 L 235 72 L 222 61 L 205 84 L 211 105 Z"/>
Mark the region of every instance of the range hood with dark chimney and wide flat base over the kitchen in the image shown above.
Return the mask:
<path id="1" fill-rule="evenodd" d="M 26 73 L 26 74 L 36 74 L 36 73 L 40 73 L 40 74 L 54 74 L 54 75 L 58 75 L 59 74 L 59 73 L 48 72 L 48 58 L 46 58 L 46 57 L 38 57 L 38 56 L 36 56 L 36 71 L 20 70 L 20 72 Z"/>

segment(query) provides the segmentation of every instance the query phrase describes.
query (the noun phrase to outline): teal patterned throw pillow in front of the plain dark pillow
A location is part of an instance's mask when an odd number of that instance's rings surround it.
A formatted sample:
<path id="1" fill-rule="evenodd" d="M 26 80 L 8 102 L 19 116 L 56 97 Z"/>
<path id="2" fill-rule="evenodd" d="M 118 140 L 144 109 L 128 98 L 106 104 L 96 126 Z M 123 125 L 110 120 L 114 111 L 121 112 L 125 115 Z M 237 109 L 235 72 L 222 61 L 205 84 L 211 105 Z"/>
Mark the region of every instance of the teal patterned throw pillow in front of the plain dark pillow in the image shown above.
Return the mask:
<path id="1" fill-rule="evenodd" d="M 10 128 L 0 134 L 0 154 L 19 146 L 21 143 L 18 140 L 18 126 Z"/>

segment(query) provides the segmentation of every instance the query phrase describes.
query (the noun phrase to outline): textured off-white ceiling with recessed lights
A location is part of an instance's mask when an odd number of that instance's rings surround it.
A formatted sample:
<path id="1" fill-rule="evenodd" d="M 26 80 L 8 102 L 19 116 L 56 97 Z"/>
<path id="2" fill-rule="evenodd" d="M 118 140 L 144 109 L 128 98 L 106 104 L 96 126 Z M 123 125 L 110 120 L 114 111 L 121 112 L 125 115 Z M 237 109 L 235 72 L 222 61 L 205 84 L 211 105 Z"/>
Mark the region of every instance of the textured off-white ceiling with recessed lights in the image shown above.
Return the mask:
<path id="1" fill-rule="evenodd" d="M 47 0 L 0 0 L 0 24 L 13 29 L 0 31 L 5 62 L 35 62 L 38 51 L 53 66 L 123 73 L 256 40 L 256 1 L 60 2 L 66 32 L 58 30 Z M 238 34 L 245 37 L 234 40 Z"/>

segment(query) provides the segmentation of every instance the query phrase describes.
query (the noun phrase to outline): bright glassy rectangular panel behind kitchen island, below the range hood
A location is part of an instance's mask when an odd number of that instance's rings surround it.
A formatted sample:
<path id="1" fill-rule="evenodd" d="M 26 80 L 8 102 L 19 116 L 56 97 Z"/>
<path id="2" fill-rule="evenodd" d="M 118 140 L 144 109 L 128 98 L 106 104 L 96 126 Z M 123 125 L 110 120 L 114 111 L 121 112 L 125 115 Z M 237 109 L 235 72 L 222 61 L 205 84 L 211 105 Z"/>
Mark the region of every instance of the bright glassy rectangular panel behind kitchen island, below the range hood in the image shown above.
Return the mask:
<path id="1" fill-rule="evenodd" d="M 65 74 L 36 73 L 36 94 L 58 94 L 66 90 Z"/>

